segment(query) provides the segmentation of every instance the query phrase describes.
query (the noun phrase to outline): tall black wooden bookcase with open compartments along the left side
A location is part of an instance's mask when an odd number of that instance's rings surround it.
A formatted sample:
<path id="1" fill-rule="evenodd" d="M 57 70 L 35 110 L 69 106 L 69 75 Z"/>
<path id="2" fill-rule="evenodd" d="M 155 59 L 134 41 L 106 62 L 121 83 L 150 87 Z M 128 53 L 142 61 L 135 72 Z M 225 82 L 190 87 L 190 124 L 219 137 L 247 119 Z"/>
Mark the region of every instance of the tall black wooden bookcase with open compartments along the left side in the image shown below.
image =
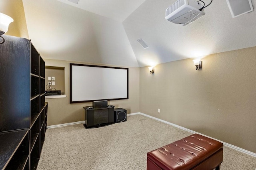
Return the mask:
<path id="1" fill-rule="evenodd" d="M 47 126 L 45 63 L 30 40 L 2 37 L 0 170 L 35 170 Z"/>

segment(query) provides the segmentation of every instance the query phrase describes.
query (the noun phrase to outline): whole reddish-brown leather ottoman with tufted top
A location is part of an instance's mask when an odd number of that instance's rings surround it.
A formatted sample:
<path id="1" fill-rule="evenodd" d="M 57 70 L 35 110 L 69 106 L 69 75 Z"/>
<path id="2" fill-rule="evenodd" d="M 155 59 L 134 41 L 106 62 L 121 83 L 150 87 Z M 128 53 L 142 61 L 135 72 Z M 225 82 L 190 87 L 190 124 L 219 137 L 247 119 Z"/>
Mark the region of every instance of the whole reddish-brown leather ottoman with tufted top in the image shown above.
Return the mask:
<path id="1" fill-rule="evenodd" d="M 216 170 L 223 160 L 223 144 L 200 134 L 148 152 L 147 170 Z"/>

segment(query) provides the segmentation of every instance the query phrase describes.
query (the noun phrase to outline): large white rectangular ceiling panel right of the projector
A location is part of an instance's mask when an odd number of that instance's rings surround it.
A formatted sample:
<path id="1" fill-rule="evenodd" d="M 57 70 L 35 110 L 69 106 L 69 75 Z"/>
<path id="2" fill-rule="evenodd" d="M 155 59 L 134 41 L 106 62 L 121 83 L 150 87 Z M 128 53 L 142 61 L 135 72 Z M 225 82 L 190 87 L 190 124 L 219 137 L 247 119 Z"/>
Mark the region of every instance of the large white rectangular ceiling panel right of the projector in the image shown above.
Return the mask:
<path id="1" fill-rule="evenodd" d="M 251 0 L 226 0 L 233 18 L 253 11 Z"/>

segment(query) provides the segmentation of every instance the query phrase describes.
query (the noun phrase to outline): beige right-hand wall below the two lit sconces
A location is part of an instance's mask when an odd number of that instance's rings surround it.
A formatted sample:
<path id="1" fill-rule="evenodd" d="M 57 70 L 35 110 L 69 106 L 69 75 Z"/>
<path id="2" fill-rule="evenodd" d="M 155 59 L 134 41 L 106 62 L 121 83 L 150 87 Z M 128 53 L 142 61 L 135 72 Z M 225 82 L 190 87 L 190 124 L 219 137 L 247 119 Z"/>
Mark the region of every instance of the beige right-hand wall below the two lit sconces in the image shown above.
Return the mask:
<path id="1" fill-rule="evenodd" d="M 140 68 L 140 112 L 256 153 L 256 47 Z M 160 113 L 157 113 L 160 109 Z"/>

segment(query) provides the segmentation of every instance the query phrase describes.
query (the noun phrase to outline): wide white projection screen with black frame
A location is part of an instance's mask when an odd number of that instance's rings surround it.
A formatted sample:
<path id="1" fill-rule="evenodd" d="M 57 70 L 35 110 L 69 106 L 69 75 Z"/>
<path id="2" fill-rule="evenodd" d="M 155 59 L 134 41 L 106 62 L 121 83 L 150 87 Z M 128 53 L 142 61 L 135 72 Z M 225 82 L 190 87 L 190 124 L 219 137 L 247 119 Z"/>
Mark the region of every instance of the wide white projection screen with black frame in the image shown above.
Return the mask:
<path id="1" fill-rule="evenodd" d="M 70 103 L 128 99 L 128 68 L 70 63 Z"/>

